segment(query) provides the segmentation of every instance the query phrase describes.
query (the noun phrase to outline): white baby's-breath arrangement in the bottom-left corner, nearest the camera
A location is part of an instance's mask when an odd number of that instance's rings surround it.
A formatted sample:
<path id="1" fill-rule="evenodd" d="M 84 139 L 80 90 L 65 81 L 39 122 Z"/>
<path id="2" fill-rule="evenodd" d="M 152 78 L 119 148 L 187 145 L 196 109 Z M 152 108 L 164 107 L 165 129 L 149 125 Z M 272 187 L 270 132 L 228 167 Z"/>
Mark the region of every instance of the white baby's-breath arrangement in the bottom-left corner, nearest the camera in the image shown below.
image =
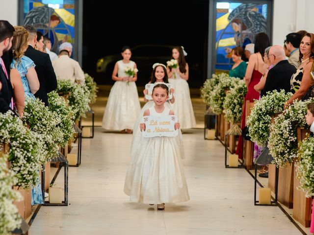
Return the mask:
<path id="1" fill-rule="evenodd" d="M 12 187 L 17 184 L 14 172 L 7 169 L 7 155 L 0 157 L 0 235 L 10 234 L 19 228 L 22 219 L 13 201 L 21 201 L 23 198 Z"/>

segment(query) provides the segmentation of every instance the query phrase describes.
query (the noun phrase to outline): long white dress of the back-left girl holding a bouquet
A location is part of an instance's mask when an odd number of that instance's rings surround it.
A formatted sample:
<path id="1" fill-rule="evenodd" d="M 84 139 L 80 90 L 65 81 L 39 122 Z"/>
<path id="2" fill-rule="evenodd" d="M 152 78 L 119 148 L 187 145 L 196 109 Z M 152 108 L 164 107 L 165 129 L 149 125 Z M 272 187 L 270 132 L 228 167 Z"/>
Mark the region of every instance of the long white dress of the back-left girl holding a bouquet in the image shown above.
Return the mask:
<path id="1" fill-rule="evenodd" d="M 128 76 L 124 69 L 134 68 L 135 63 L 125 64 L 118 61 L 118 77 Z M 116 81 L 110 90 L 105 113 L 103 128 L 106 130 L 133 129 L 134 122 L 141 111 L 135 82 Z"/>

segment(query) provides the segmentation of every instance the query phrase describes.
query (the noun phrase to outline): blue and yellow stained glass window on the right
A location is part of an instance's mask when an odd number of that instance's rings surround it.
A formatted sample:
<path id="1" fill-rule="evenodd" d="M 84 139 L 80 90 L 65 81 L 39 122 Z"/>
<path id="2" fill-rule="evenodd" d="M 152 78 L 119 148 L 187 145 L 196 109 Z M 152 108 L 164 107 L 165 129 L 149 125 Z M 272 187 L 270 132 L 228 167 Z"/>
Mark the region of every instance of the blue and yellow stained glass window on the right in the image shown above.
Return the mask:
<path id="1" fill-rule="evenodd" d="M 216 71 L 230 71 L 231 50 L 254 43 L 255 35 L 267 30 L 267 4 L 216 3 Z"/>

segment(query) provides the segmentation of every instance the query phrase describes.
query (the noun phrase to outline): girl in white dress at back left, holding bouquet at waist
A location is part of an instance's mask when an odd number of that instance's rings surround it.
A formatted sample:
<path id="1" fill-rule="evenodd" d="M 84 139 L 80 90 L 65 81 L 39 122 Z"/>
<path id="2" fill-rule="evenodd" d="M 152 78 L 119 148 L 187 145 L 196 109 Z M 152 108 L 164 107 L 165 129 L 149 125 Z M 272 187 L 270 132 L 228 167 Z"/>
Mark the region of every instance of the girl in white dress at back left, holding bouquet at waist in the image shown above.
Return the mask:
<path id="1" fill-rule="evenodd" d="M 131 133 L 134 122 L 140 113 L 141 105 L 138 100 L 136 64 L 130 60 L 130 47 L 122 48 L 123 60 L 119 60 L 113 69 L 112 80 L 116 81 L 110 90 L 103 128 L 120 130 L 121 133 Z M 126 72 L 130 72 L 129 75 Z M 133 75 L 130 75 L 133 73 Z"/>

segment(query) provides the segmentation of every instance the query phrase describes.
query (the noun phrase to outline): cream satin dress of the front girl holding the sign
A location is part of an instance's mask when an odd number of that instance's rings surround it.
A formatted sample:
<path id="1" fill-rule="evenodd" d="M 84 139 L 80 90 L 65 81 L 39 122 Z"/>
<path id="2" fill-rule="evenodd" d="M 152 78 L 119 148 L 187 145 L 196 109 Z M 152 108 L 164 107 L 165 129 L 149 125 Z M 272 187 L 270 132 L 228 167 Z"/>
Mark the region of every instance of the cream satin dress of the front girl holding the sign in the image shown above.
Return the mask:
<path id="1" fill-rule="evenodd" d="M 150 116 L 169 115 L 165 107 L 157 113 L 149 109 Z M 174 137 L 143 138 L 131 160 L 124 192 L 131 202 L 146 204 L 180 203 L 190 199 L 186 185 L 180 146 Z"/>

